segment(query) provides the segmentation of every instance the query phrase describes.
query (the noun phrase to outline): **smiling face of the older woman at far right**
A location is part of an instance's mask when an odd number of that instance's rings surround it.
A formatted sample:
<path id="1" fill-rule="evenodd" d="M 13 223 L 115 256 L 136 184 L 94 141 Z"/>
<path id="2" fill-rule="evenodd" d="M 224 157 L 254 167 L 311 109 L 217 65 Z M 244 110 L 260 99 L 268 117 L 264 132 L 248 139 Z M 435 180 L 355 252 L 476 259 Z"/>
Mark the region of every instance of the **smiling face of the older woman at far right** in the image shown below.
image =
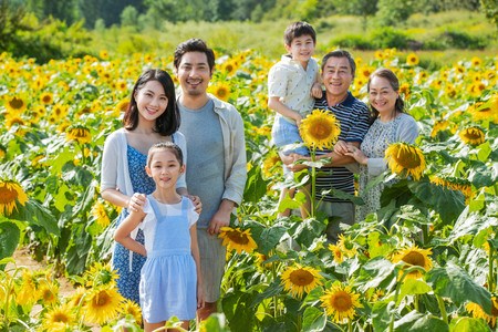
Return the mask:
<path id="1" fill-rule="evenodd" d="M 385 77 L 374 76 L 370 82 L 369 101 L 378 111 L 381 118 L 390 118 L 395 113 L 398 92 Z"/>

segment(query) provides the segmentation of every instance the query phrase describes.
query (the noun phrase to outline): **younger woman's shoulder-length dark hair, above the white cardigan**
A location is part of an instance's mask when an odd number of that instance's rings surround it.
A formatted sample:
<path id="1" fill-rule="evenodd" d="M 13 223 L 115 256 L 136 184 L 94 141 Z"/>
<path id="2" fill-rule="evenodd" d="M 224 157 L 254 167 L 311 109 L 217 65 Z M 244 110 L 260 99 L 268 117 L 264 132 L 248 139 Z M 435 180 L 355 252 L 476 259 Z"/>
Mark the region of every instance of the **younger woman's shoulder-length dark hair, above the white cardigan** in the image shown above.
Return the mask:
<path id="1" fill-rule="evenodd" d="M 138 80 L 133 86 L 132 100 L 129 101 L 128 110 L 123 117 L 123 126 L 126 129 L 133 131 L 138 125 L 138 107 L 136 105 L 135 94 L 144 87 L 149 81 L 157 81 L 163 85 L 166 97 L 168 98 L 168 105 L 166 111 L 156 118 L 156 125 L 154 132 L 162 136 L 173 135 L 180 125 L 180 116 L 178 105 L 176 103 L 175 85 L 169 74 L 159 69 L 151 69 L 142 73 Z"/>

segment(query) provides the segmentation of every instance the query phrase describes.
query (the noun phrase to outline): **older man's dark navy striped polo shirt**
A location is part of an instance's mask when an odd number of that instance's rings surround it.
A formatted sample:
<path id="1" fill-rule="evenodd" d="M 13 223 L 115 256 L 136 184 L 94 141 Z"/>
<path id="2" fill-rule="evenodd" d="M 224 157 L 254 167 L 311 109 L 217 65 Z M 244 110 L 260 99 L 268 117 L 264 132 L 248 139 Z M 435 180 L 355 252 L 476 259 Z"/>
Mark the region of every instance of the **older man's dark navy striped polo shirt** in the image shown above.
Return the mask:
<path id="1" fill-rule="evenodd" d="M 362 101 L 355 98 L 351 92 L 347 92 L 347 97 L 344 102 L 330 107 L 326 103 L 326 94 L 323 92 L 321 98 L 317 98 L 314 108 L 331 111 L 339 122 L 341 134 L 339 139 L 344 142 L 362 142 L 369 131 L 369 107 Z M 330 149 L 317 149 L 317 156 L 331 153 Z M 320 173 L 324 173 L 317 178 L 317 199 L 322 198 L 322 190 L 332 188 L 343 190 L 347 194 L 354 195 L 354 176 L 344 166 L 339 167 L 322 167 Z M 349 200 L 325 195 L 324 201 L 344 203 Z"/>

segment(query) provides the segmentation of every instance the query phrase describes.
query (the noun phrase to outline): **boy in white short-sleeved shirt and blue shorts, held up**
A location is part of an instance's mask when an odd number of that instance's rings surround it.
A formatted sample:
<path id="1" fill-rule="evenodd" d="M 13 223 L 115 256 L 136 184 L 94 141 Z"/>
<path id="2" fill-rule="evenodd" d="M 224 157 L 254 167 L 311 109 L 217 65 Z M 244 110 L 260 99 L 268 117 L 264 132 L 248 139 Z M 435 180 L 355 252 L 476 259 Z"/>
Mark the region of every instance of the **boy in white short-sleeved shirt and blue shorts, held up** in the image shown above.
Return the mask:
<path id="1" fill-rule="evenodd" d="M 282 55 L 281 61 L 274 64 L 268 75 L 268 107 L 277 112 L 271 137 L 274 145 L 282 147 L 288 144 L 303 142 L 299 135 L 301 121 L 312 112 L 313 97 L 322 96 L 320 68 L 312 59 L 317 45 L 317 33 L 307 22 L 293 22 L 287 27 L 283 34 L 284 45 L 289 54 Z M 284 155 L 309 156 L 308 148 L 282 151 Z M 284 175 L 291 174 L 283 165 Z M 310 186 L 305 189 L 310 191 Z M 287 194 L 292 198 L 295 189 L 283 189 L 280 201 Z M 308 195 L 307 195 L 308 196 Z M 280 204 L 279 201 L 279 204 Z M 308 217 L 311 204 L 301 207 L 301 216 Z M 289 216 L 290 210 L 279 214 L 279 217 Z"/>

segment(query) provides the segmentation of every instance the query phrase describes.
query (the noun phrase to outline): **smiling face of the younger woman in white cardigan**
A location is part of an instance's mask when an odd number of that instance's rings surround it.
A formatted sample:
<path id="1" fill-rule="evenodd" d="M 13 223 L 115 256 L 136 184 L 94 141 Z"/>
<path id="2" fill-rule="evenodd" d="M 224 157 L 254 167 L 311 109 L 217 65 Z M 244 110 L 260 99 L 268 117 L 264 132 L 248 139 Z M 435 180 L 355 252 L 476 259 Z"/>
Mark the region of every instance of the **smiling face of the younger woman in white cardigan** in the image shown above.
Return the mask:
<path id="1" fill-rule="evenodd" d="M 135 92 L 138 118 L 141 122 L 154 122 L 159 117 L 168 105 L 168 97 L 163 85 L 158 81 L 148 81 Z"/>

